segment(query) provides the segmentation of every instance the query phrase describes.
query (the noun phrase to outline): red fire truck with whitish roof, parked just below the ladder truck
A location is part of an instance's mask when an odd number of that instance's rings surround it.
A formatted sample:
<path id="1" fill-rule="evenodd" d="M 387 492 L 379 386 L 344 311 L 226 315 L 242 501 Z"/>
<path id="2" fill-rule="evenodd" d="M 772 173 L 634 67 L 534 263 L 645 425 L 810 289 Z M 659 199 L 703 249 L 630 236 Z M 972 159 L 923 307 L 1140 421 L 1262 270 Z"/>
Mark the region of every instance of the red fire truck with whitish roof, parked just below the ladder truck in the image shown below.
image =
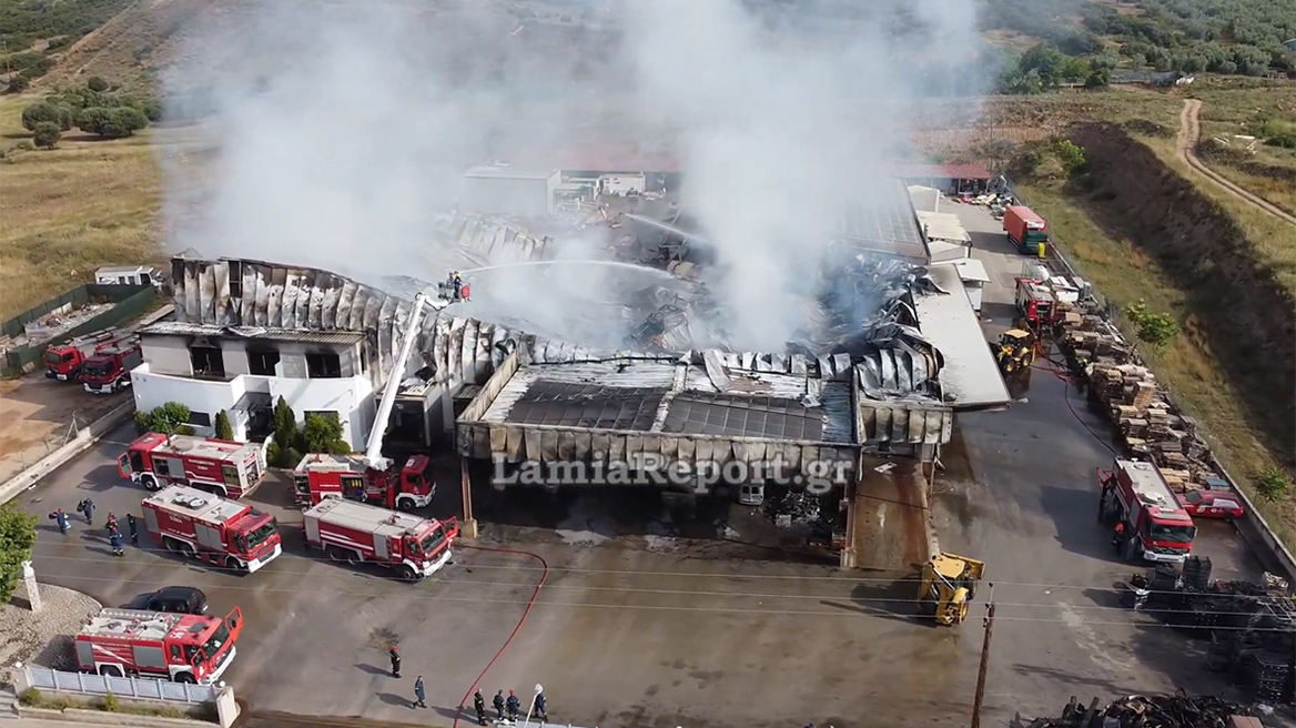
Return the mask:
<path id="1" fill-rule="evenodd" d="M 303 516 L 306 544 L 332 561 L 395 569 L 406 582 L 434 574 L 450 561 L 459 521 L 434 521 L 340 497 L 327 497 Z"/>

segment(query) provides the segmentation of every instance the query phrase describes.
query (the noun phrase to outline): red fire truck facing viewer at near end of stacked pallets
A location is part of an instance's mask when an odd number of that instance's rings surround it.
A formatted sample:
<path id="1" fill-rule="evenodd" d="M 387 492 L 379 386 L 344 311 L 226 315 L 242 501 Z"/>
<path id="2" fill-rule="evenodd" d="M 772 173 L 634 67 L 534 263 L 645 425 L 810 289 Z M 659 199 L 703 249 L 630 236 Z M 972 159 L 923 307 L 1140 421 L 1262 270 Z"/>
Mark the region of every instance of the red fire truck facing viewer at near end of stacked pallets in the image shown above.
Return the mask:
<path id="1" fill-rule="evenodd" d="M 1117 529 L 1116 545 L 1126 561 L 1182 563 L 1198 529 L 1152 462 L 1117 460 L 1099 470 L 1098 518 Z"/>

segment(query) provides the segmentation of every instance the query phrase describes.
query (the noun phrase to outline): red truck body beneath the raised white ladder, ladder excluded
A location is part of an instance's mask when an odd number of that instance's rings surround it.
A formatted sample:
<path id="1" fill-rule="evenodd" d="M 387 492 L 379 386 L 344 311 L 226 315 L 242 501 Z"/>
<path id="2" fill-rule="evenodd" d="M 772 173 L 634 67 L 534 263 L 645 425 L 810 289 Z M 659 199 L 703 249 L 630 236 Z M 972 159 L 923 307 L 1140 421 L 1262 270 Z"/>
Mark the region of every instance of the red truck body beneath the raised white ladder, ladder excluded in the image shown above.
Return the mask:
<path id="1" fill-rule="evenodd" d="M 437 482 L 432 459 L 415 455 L 404 468 L 376 470 L 356 455 L 311 453 L 293 470 L 297 505 L 310 508 L 325 497 L 349 497 L 397 510 L 413 510 L 432 503 Z"/>

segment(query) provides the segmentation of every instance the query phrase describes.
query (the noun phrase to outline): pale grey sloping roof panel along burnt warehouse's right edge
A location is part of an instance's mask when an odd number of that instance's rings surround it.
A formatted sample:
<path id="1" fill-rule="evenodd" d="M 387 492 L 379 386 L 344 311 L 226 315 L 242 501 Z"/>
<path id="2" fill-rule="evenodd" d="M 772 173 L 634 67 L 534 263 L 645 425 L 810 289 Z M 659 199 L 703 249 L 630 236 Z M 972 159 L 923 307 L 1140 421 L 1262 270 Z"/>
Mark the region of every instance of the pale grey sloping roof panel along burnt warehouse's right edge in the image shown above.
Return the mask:
<path id="1" fill-rule="evenodd" d="M 972 311 L 956 266 L 931 266 L 938 291 L 915 294 L 919 325 L 945 359 L 940 370 L 945 400 L 955 409 L 998 407 L 1012 400 Z M 943 293 L 942 293 L 943 291 Z"/>

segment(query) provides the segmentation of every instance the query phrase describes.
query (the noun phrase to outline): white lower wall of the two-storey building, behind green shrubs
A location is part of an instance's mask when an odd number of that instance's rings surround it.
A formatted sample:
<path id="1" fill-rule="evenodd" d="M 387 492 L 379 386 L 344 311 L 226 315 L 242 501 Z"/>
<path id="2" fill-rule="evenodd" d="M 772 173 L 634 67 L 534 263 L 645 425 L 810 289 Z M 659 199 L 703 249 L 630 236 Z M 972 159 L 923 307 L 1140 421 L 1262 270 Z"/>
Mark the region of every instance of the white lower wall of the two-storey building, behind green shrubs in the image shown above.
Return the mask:
<path id="1" fill-rule="evenodd" d="M 167 402 L 179 402 L 192 412 L 203 412 L 215 424 L 216 413 L 229 413 L 235 439 L 248 439 L 248 420 L 232 412 L 235 403 L 245 392 L 268 394 L 271 402 L 283 396 L 302 424 L 306 412 L 337 412 L 342 420 L 342 439 L 355 451 L 363 451 L 369 426 L 373 424 L 376 404 L 373 385 L 367 376 L 341 380 L 298 380 L 288 377 L 260 377 L 240 374 L 228 382 L 154 374 L 148 363 L 131 372 L 136 409 L 154 409 Z M 198 434 L 210 435 L 210 429 Z"/>

